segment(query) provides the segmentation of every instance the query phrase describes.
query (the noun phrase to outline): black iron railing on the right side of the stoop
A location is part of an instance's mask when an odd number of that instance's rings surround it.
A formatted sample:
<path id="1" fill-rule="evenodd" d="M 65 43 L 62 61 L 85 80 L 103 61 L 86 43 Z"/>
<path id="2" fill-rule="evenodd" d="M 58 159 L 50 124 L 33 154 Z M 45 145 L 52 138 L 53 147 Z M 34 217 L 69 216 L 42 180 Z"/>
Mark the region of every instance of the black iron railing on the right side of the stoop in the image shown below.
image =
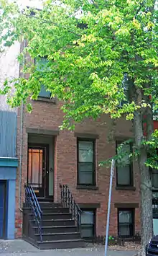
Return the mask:
<path id="1" fill-rule="evenodd" d="M 72 193 L 68 185 L 60 184 L 60 192 L 61 192 L 61 203 L 63 207 L 68 207 L 70 213 L 72 213 L 73 220 L 75 221 L 76 226 L 78 226 L 78 231 L 80 231 L 81 226 L 81 213 L 80 207 L 78 203 L 75 203 Z"/>

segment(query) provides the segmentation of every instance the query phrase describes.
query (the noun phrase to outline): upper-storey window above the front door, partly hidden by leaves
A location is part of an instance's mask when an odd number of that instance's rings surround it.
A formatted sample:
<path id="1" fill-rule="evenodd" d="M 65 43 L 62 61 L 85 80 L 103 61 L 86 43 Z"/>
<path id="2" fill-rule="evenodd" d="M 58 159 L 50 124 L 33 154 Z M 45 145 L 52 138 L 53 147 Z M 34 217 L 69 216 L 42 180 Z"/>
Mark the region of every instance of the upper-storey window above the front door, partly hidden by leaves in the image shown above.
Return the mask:
<path id="1" fill-rule="evenodd" d="M 35 60 L 35 63 L 37 65 L 37 71 L 46 71 L 48 70 L 47 68 L 47 58 L 46 57 L 42 57 L 38 60 Z M 45 85 L 44 84 L 41 84 L 41 90 L 40 90 L 40 94 L 39 96 L 40 98 L 45 98 L 45 99 L 50 99 L 51 97 L 51 94 L 50 92 L 48 92 L 46 89 L 45 89 Z"/>

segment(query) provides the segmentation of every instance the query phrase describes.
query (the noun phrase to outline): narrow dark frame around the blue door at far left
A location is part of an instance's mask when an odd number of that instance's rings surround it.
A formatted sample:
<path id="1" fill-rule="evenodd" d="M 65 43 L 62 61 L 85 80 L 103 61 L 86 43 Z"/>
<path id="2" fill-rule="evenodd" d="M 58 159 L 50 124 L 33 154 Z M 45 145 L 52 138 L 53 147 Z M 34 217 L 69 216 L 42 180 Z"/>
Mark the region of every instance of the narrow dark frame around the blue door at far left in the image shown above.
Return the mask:
<path id="1" fill-rule="evenodd" d="M 6 182 L 7 180 L 0 180 L 0 183 L 4 184 L 4 208 L 3 208 L 3 231 L 2 231 L 2 237 L 0 239 L 6 239 L 6 217 L 7 217 L 7 211 L 6 211 Z"/>

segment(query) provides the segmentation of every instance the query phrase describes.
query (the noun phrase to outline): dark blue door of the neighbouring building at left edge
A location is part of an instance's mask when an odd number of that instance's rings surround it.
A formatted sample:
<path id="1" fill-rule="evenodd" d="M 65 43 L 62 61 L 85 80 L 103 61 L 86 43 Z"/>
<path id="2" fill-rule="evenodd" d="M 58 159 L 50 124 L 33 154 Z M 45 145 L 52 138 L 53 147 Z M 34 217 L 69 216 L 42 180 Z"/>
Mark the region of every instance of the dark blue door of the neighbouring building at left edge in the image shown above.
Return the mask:
<path id="1" fill-rule="evenodd" d="M 0 181 L 0 239 L 4 238 L 5 183 Z"/>

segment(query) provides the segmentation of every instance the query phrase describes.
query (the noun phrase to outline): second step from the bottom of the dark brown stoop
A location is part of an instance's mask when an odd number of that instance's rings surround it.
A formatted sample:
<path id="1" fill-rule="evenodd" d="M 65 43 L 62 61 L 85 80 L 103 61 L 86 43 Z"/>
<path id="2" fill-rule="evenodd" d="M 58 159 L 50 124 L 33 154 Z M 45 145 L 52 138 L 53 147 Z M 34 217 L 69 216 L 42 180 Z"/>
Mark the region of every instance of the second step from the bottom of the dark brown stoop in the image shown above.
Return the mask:
<path id="1" fill-rule="evenodd" d="M 37 237 L 37 241 L 40 241 L 40 234 L 34 234 Z M 59 241 L 59 240 L 73 240 L 80 239 L 79 232 L 71 232 L 71 233 L 47 233 L 42 234 L 43 241 Z"/>

